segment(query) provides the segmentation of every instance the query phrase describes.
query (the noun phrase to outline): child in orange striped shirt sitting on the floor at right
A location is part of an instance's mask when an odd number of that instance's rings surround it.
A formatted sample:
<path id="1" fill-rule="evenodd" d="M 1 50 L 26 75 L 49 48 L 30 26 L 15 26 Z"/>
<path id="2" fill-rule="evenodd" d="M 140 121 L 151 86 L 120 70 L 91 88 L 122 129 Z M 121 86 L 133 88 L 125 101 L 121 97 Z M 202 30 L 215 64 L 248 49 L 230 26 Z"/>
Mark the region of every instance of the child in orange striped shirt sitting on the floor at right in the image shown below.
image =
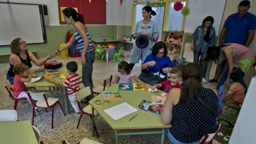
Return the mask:
<path id="1" fill-rule="evenodd" d="M 243 100 L 245 97 L 244 90 L 245 88 L 239 83 L 240 75 L 238 73 L 230 74 L 230 89 L 228 90 L 227 95 L 223 96 L 223 100 L 226 101 L 226 106 L 231 108 L 240 110 L 241 106 L 239 104 L 243 104 Z"/>

